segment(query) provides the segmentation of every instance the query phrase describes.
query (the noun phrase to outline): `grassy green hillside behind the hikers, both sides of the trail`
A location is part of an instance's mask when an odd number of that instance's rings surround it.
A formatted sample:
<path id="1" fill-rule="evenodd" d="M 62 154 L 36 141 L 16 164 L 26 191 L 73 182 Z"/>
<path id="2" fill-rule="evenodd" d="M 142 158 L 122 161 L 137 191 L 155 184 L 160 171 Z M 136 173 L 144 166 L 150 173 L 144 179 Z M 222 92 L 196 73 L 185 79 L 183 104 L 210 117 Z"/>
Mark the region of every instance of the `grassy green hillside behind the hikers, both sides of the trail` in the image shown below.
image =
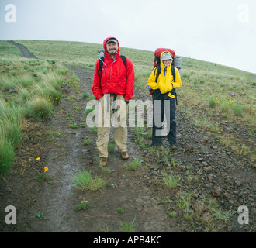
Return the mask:
<path id="1" fill-rule="evenodd" d="M 101 44 L 16 40 L 28 47 L 39 60 L 22 58 L 19 49 L 0 41 L 0 173 L 8 171 L 16 146 L 22 138 L 22 119 L 47 119 L 61 101 L 61 85 L 75 81 L 65 65 L 94 67 Z M 147 95 L 147 79 L 154 53 L 121 47 L 120 53 L 133 61 L 136 86 Z M 178 53 L 178 51 L 177 51 Z M 236 122 L 255 136 L 256 74 L 219 64 L 182 57 L 182 88 L 178 89 L 178 109 L 192 124 L 207 129 L 223 146 L 240 155 L 251 154 L 253 140 L 223 133 L 223 124 Z"/>

